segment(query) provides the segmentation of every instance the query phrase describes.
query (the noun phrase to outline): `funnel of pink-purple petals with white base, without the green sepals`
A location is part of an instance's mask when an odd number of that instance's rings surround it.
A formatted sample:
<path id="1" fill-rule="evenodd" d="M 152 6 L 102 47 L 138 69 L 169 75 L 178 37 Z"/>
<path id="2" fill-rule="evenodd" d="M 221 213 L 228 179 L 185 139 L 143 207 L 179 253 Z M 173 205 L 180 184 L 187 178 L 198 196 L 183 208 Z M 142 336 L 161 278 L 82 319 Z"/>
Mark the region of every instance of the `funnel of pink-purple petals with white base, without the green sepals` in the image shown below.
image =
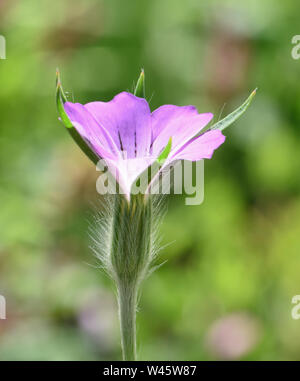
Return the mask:
<path id="1" fill-rule="evenodd" d="M 64 109 L 128 197 L 132 184 L 159 157 L 170 138 L 171 150 L 162 167 L 175 160 L 210 159 L 225 141 L 218 129 L 196 136 L 212 119 L 211 113 L 198 114 L 193 106 L 174 105 L 151 112 L 144 98 L 127 92 L 110 102 L 66 102 Z"/>

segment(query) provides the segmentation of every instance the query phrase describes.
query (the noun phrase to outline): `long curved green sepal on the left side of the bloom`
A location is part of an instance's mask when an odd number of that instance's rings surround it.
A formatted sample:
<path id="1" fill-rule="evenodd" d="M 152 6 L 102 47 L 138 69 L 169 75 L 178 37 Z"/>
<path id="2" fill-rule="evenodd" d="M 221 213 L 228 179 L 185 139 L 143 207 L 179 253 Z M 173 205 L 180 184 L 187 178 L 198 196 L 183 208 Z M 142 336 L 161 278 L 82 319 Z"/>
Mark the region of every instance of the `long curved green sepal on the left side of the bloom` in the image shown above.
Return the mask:
<path id="1" fill-rule="evenodd" d="M 67 97 L 63 91 L 59 70 L 56 70 L 56 107 L 58 114 L 61 118 L 61 121 L 65 125 L 67 131 L 74 139 L 75 143 L 79 146 L 79 148 L 87 155 L 87 157 L 94 163 L 97 164 L 99 161 L 98 156 L 94 153 L 94 151 L 88 146 L 86 141 L 82 139 L 81 135 L 77 132 L 77 130 L 73 127 L 67 113 L 64 109 L 64 103 L 67 102 Z"/>

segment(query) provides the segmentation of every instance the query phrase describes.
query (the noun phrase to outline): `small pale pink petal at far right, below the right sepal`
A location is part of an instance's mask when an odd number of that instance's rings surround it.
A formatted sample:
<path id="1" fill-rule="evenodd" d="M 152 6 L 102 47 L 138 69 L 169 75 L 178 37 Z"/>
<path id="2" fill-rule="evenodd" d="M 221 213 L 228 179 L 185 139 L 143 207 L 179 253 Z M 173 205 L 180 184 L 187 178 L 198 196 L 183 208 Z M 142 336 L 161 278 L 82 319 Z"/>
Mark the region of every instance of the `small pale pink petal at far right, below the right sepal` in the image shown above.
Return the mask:
<path id="1" fill-rule="evenodd" d="M 197 161 L 201 159 L 211 159 L 214 150 L 223 144 L 224 141 L 225 136 L 221 131 L 207 131 L 203 135 L 197 136 L 186 143 L 179 151 L 170 157 L 169 160 Z"/>

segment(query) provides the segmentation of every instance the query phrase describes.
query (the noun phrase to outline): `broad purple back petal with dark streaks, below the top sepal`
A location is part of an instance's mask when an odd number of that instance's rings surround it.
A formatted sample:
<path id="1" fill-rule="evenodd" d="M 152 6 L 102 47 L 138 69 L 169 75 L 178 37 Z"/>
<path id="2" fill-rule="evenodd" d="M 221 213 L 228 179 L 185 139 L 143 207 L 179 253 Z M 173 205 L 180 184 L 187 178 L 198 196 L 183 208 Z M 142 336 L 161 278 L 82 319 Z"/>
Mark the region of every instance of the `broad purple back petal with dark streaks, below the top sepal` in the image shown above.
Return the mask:
<path id="1" fill-rule="evenodd" d="M 91 102 L 84 107 L 109 132 L 118 149 L 126 151 L 128 158 L 149 154 L 151 112 L 145 99 L 122 92 L 110 102 Z"/>

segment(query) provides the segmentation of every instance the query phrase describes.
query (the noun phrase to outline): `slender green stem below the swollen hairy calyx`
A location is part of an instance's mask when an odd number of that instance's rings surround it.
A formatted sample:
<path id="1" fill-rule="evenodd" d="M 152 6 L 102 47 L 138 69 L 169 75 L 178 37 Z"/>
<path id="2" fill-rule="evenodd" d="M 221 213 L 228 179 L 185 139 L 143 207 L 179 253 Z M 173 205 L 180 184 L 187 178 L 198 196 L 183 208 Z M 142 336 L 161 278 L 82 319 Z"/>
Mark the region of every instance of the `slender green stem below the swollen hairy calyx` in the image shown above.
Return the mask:
<path id="1" fill-rule="evenodd" d="M 123 360 L 135 361 L 137 288 L 119 285 L 118 296 Z"/>

